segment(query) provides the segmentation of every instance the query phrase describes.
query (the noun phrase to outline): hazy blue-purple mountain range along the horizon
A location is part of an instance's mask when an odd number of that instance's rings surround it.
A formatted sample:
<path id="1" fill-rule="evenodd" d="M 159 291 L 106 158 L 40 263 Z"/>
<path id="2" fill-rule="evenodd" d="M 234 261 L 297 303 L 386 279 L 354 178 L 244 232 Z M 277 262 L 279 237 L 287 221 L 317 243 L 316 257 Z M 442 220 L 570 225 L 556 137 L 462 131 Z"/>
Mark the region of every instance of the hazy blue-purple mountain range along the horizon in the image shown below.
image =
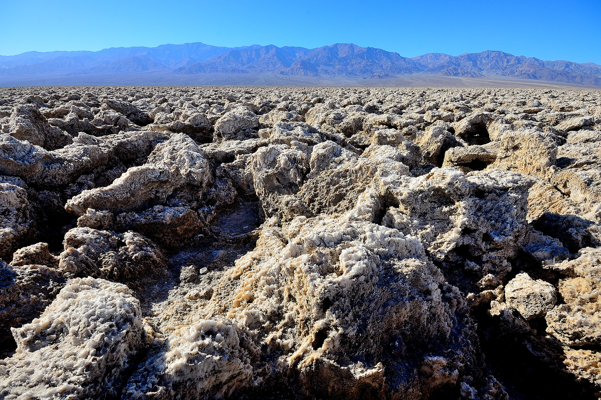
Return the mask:
<path id="1" fill-rule="evenodd" d="M 98 52 L 26 52 L 0 56 L 0 80 L 8 77 L 97 76 L 161 73 L 165 76 L 272 73 L 281 76 L 351 80 L 382 79 L 408 74 L 454 77 L 508 77 L 601 86 L 601 65 L 543 61 L 500 51 L 451 56 L 427 53 L 406 58 L 395 52 L 352 43 L 305 49 L 273 45 L 219 47 L 204 43 L 157 47 L 112 47 Z"/>

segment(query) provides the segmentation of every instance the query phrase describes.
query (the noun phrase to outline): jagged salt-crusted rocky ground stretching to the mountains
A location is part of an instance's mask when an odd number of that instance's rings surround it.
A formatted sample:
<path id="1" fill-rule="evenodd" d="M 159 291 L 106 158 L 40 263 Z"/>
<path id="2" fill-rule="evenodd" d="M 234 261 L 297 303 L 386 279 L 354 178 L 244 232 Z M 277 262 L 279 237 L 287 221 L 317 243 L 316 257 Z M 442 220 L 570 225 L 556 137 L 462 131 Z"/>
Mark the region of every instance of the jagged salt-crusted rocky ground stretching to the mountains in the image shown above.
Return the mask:
<path id="1" fill-rule="evenodd" d="M 601 92 L 0 89 L 0 398 L 594 399 Z"/>

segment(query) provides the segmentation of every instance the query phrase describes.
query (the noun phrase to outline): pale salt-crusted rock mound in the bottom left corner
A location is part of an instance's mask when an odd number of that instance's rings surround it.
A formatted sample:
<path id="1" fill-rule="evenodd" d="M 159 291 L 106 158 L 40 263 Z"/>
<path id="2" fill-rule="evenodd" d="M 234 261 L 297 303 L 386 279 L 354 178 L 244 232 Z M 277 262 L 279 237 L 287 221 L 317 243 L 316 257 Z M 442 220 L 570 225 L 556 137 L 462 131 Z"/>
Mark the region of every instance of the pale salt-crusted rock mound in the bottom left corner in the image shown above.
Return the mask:
<path id="1" fill-rule="evenodd" d="M 120 372 L 144 338 L 139 302 L 126 285 L 69 281 L 40 318 L 13 329 L 17 350 L 0 361 L 4 398 L 115 395 Z"/>

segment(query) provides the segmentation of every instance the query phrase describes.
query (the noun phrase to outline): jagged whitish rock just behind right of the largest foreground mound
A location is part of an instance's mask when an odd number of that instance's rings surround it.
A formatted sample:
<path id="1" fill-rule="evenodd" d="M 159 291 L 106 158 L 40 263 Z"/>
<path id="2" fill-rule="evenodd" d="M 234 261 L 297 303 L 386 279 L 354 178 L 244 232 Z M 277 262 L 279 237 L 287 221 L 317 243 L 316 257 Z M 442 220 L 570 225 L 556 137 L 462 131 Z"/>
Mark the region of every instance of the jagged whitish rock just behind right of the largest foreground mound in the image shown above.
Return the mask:
<path id="1" fill-rule="evenodd" d="M 526 239 L 530 185 L 522 175 L 499 170 L 464 175 L 433 169 L 391 188 L 398 205 L 386 205 L 382 224 L 419 237 L 433 260 L 464 266 L 469 261 L 478 276 L 474 284 L 491 274 L 484 286 L 496 287 L 511 270 L 507 259 Z"/>

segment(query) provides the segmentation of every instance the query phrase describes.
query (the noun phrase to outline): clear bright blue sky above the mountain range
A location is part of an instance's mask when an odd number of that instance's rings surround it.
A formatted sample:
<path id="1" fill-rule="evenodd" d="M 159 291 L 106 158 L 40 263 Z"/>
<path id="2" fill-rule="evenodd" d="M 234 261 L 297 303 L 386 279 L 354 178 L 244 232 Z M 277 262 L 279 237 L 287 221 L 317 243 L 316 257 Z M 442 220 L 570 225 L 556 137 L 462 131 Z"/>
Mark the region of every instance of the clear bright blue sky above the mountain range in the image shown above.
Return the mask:
<path id="1" fill-rule="evenodd" d="M 355 43 L 412 57 L 502 50 L 601 64 L 601 0 L 0 0 L 0 55 L 201 41 Z"/>

